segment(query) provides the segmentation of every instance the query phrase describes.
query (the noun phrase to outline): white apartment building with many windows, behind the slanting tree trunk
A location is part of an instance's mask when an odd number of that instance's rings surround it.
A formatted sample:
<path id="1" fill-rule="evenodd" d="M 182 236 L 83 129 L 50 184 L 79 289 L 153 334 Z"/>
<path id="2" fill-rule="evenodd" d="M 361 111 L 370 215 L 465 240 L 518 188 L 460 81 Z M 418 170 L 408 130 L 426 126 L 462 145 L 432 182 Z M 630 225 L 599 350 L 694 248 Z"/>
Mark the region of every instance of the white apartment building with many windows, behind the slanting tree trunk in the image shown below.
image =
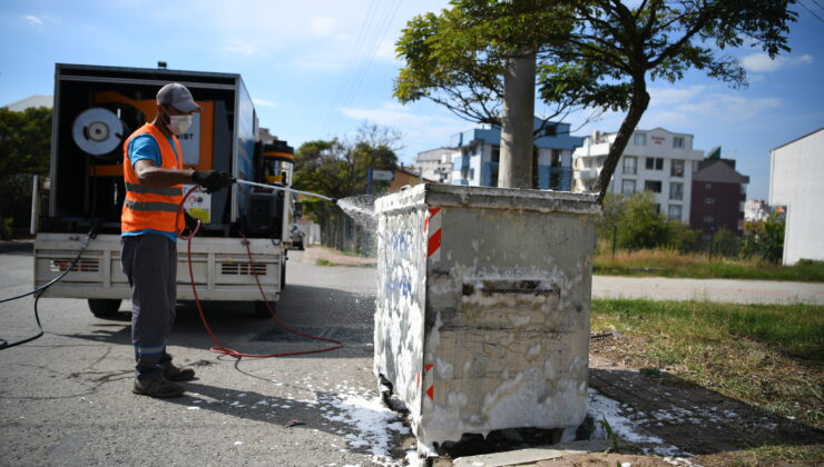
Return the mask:
<path id="1" fill-rule="evenodd" d="M 617 133 L 594 132 L 573 153 L 572 191 L 591 191 Z M 658 211 L 689 222 L 693 170 L 704 151 L 693 149 L 693 135 L 664 128 L 636 130 L 616 167 L 609 191 L 631 196 L 651 191 Z"/>

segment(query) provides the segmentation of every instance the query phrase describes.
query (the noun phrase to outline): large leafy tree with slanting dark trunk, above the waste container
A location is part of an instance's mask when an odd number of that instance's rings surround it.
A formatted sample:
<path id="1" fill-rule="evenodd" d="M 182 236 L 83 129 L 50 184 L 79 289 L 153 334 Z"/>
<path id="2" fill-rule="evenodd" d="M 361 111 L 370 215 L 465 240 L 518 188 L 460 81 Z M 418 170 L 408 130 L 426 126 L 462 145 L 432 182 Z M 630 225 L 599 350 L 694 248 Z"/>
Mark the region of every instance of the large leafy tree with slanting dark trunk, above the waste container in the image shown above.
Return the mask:
<path id="1" fill-rule="evenodd" d="M 502 60 L 534 52 L 541 99 L 560 108 L 626 110 L 595 190 L 606 196 L 615 168 L 649 105 L 647 80 L 680 80 L 690 69 L 733 87 L 746 73 L 728 48 L 788 51 L 796 0 L 453 0 L 440 16 L 409 22 L 402 102 L 429 98 L 479 119 L 500 101 Z"/>

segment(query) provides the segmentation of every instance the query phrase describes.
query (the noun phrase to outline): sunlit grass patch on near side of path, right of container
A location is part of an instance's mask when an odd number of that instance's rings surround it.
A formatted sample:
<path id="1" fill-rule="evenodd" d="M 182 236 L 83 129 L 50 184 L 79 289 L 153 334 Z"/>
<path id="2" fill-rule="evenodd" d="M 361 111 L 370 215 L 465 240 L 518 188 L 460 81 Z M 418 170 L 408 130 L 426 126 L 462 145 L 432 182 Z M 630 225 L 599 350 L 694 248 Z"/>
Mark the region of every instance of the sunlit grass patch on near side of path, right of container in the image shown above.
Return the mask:
<path id="1" fill-rule="evenodd" d="M 824 307 L 592 300 L 608 358 L 824 428 Z M 607 339 L 605 339 L 607 340 Z"/>

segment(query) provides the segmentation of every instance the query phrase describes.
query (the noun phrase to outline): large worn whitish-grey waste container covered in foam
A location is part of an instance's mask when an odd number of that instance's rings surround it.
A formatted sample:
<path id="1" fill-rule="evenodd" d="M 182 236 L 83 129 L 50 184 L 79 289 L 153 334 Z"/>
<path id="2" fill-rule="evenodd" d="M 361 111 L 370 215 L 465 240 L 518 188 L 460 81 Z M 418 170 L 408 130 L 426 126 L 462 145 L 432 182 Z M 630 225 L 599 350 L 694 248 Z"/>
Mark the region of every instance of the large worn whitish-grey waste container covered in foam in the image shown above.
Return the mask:
<path id="1" fill-rule="evenodd" d="M 375 375 L 419 448 L 575 429 L 587 410 L 594 195 L 418 185 L 375 202 Z"/>

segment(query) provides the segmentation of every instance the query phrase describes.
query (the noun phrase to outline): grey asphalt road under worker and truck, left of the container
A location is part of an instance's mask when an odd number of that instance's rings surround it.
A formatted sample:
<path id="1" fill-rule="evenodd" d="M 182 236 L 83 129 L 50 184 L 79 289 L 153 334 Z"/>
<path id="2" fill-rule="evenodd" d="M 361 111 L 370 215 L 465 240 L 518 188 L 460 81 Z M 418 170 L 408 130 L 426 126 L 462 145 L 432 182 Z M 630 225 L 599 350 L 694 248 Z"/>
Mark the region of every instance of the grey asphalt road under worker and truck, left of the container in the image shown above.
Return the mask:
<path id="1" fill-rule="evenodd" d="M 170 352 L 194 365 L 187 395 L 131 394 L 134 354 L 124 302 L 95 318 L 85 300 L 42 299 L 45 337 L 0 351 L 0 465 L 372 465 L 409 444 L 376 403 L 372 375 L 374 269 L 305 265 L 292 252 L 278 304 L 297 330 L 346 347 L 308 357 L 242 359 L 213 344 L 192 307 L 178 311 Z M 29 252 L 0 255 L 0 297 L 31 287 Z M 0 338 L 36 331 L 31 299 L 0 305 Z M 253 317 L 245 304 L 207 308 L 228 347 L 246 352 L 321 348 Z M 290 420 L 301 425 L 286 427 Z M 394 427 L 394 428 L 388 428 Z M 400 430 L 400 431 L 399 431 Z M 403 439 L 402 439 L 403 438 Z"/>

